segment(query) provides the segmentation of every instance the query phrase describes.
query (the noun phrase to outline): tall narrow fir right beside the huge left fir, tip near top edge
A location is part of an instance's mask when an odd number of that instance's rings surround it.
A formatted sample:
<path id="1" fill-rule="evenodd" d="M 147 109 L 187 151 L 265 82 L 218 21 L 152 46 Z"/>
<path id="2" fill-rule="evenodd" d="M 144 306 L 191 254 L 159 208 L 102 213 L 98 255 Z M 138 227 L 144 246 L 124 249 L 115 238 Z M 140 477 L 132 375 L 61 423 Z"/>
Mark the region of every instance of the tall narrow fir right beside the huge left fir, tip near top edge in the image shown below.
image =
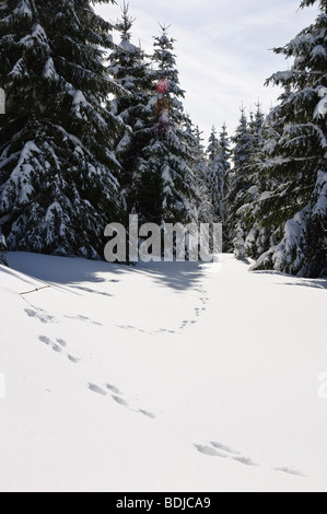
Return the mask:
<path id="1" fill-rule="evenodd" d="M 119 182 L 128 213 L 138 212 L 142 152 L 150 144 L 151 128 L 156 122 L 152 102 L 155 95 L 153 73 L 144 50 L 131 43 L 133 23 L 129 4 L 124 2 L 122 16 L 116 23 L 121 40 L 110 54 L 109 72 L 126 92 L 116 95 L 110 107 L 126 125 L 115 153 L 122 168 Z"/>

